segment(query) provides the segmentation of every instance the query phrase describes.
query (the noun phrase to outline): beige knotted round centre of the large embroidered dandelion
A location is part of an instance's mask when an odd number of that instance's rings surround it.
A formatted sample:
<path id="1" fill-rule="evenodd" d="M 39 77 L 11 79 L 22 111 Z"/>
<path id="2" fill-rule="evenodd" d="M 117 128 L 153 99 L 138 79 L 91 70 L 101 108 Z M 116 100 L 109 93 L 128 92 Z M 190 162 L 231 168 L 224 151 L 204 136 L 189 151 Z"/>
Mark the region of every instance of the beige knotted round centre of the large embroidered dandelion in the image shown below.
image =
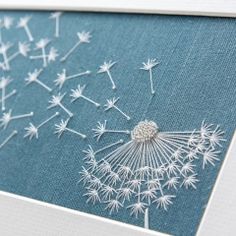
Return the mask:
<path id="1" fill-rule="evenodd" d="M 153 121 L 141 121 L 131 131 L 131 138 L 137 142 L 145 142 L 156 137 L 158 126 Z"/>

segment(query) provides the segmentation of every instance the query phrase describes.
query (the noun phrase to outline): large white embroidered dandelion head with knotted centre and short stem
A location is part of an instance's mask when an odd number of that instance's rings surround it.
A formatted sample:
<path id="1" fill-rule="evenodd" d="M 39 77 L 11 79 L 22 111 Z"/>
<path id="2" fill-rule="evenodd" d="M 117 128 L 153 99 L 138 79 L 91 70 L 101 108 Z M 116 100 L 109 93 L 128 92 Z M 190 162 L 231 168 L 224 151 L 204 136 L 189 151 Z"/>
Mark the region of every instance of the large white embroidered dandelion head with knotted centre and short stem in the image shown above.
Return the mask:
<path id="1" fill-rule="evenodd" d="M 94 131 L 99 139 L 107 131 L 106 122 Z M 110 213 L 126 207 L 136 217 L 144 214 L 144 226 L 149 228 L 151 205 L 167 211 L 174 191 L 196 189 L 198 162 L 205 167 L 219 160 L 222 135 L 219 126 L 205 122 L 199 130 L 184 132 L 160 132 L 153 121 L 139 122 L 130 141 L 102 158 L 96 158 L 91 147 L 84 151 L 87 168 L 82 167 L 80 181 L 88 191 L 87 202 L 104 203 Z"/>

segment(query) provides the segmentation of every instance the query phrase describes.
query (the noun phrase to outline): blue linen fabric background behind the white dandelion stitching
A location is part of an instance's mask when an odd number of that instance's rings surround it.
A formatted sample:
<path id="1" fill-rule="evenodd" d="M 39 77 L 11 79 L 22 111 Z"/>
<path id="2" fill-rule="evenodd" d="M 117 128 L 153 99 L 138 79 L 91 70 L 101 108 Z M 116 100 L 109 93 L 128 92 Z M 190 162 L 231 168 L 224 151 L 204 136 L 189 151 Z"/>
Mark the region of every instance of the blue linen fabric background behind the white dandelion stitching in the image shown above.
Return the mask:
<path id="1" fill-rule="evenodd" d="M 65 13 L 61 17 L 60 37 L 54 38 L 54 22 L 49 12 L 1 12 L 14 19 L 32 15 L 29 27 L 37 42 L 52 39 L 51 45 L 63 55 L 77 40 L 76 33 L 92 33 L 90 44 L 81 45 L 64 63 L 50 64 L 40 76 L 53 87 L 63 68 L 68 74 L 91 70 L 90 76 L 81 77 L 62 88 L 67 92 L 63 103 L 73 111 L 69 127 L 87 134 L 87 140 L 65 133 L 58 139 L 54 123 L 66 114 L 47 123 L 40 129 L 39 139 L 24 139 L 24 127 L 29 121 L 39 124 L 59 108 L 47 110 L 50 95 L 36 84 L 25 85 L 28 72 L 41 68 L 39 60 L 18 57 L 11 63 L 11 71 L 1 71 L 1 76 L 11 76 L 13 82 L 7 91 L 16 88 L 18 93 L 6 102 L 14 114 L 34 111 L 32 118 L 12 121 L 0 131 L 0 142 L 13 130 L 19 131 L 0 150 L 0 189 L 52 204 L 143 227 L 143 217 L 130 217 L 130 211 L 119 210 L 110 215 L 102 204 L 86 204 L 86 192 L 78 183 L 84 165 L 82 150 L 90 143 L 94 149 L 129 137 L 105 135 L 99 143 L 93 138 L 92 128 L 97 121 L 107 120 L 114 129 L 132 129 L 143 119 L 154 120 L 162 131 L 194 130 L 202 120 L 220 124 L 227 141 L 223 144 L 220 161 L 199 171 L 197 190 L 180 188 L 168 211 L 150 209 L 150 228 L 181 236 L 194 235 L 204 213 L 220 166 L 235 129 L 236 118 L 236 21 L 226 18 L 162 16 L 141 14 Z M 2 31 L 3 40 L 14 43 L 27 41 L 23 29 Z M 32 47 L 34 48 L 34 44 Z M 37 54 L 32 51 L 31 55 Z M 139 70 L 148 58 L 161 63 L 153 69 L 155 96 L 151 99 L 148 73 Z M 117 61 L 111 73 L 117 90 L 112 91 L 105 74 L 97 74 L 105 60 Z M 107 98 L 120 97 L 119 107 L 131 116 L 127 122 L 116 111 L 104 112 L 92 104 L 78 100 L 71 104 L 69 91 L 78 83 L 86 84 L 85 94 L 105 104 Z M 201 166 L 198 167 L 199 170 Z"/>

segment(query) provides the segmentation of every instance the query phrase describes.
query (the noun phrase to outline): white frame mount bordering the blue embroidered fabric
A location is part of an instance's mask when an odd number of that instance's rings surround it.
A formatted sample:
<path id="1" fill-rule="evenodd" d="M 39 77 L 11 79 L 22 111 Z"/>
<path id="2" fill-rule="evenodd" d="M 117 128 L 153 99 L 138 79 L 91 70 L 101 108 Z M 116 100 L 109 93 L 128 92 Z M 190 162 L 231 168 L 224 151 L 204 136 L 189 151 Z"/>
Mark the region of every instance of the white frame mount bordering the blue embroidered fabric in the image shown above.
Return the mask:
<path id="1" fill-rule="evenodd" d="M 234 0 L 0 0 L 0 9 L 236 17 Z M 236 134 L 201 220 L 198 236 L 232 235 L 236 231 L 236 190 L 232 188 L 236 179 L 235 156 Z M 0 209 L 1 235 L 166 235 L 6 192 L 0 192 Z"/>

